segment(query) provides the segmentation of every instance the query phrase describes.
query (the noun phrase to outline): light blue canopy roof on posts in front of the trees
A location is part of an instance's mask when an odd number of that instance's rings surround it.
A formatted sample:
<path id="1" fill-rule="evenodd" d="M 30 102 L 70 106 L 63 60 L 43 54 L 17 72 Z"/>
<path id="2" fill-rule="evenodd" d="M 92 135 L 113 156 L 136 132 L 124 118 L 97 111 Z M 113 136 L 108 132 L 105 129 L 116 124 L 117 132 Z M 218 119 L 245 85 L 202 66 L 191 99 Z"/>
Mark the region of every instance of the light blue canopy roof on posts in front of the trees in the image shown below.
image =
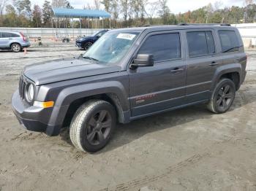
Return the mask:
<path id="1" fill-rule="evenodd" d="M 102 17 L 102 26 L 104 25 L 103 18 L 110 18 L 110 13 L 104 10 L 92 10 L 92 9 L 65 9 L 65 8 L 53 8 L 53 15 L 57 18 L 64 17 L 72 19 L 72 28 L 73 28 L 73 19 L 79 18 L 80 29 L 81 29 L 81 18 L 89 19 L 99 19 Z M 110 21 L 110 20 L 109 20 Z"/>

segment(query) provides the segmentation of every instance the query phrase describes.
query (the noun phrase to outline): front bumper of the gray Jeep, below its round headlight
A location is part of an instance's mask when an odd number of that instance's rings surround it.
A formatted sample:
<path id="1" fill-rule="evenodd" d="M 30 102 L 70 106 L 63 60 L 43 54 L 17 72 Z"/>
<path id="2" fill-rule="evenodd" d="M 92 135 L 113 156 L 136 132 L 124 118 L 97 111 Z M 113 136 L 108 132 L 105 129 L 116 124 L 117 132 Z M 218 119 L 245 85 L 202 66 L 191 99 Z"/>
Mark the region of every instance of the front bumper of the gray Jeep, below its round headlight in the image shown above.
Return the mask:
<path id="1" fill-rule="evenodd" d="M 45 132 L 48 136 L 59 135 L 61 125 L 48 124 L 53 108 L 43 109 L 26 104 L 16 90 L 12 95 L 12 110 L 20 124 L 27 130 Z"/>

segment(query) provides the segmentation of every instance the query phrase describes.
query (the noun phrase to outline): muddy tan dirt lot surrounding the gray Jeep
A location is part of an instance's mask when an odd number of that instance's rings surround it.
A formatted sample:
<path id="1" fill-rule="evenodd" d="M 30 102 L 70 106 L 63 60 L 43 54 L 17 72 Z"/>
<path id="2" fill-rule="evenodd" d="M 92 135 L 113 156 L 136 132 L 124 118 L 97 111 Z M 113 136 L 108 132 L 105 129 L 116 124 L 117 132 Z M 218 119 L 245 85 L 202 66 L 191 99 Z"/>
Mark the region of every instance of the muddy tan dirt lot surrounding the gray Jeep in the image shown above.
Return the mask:
<path id="1" fill-rule="evenodd" d="M 72 147 L 68 130 L 23 129 L 11 95 L 26 64 L 79 55 L 73 44 L 0 52 L 0 190 L 256 190 L 256 50 L 230 112 L 191 106 L 118 125 L 94 155 Z"/>

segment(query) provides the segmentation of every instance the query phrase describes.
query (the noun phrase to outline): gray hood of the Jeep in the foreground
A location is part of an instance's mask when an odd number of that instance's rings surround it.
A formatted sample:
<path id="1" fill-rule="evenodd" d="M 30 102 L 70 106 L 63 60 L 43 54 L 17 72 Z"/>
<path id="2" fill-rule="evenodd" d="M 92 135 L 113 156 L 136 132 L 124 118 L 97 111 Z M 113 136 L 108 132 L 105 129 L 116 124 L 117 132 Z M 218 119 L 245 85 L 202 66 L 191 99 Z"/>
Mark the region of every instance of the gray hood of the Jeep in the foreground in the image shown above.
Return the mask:
<path id="1" fill-rule="evenodd" d="M 44 85 L 67 79 L 108 74 L 120 70 L 121 67 L 119 66 L 105 66 L 91 63 L 85 59 L 70 58 L 26 66 L 23 74 L 34 81 L 36 85 Z"/>

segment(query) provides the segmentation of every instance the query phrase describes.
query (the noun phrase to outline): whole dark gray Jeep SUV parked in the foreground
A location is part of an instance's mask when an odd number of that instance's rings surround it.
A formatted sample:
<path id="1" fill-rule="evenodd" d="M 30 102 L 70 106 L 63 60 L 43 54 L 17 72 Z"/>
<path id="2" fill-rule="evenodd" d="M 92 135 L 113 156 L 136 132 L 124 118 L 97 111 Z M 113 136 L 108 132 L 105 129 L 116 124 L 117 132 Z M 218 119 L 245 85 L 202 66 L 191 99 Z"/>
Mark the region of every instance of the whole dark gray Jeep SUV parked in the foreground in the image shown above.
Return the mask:
<path id="1" fill-rule="evenodd" d="M 96 152 L 116 122 L 206 103 L 227 112 L 246 76 L 246 54 L 228 25 L 151 26 L 108 31 L 78 58 L 26 66 L 12 108 L 28 130 L 59 135 Z"/>

